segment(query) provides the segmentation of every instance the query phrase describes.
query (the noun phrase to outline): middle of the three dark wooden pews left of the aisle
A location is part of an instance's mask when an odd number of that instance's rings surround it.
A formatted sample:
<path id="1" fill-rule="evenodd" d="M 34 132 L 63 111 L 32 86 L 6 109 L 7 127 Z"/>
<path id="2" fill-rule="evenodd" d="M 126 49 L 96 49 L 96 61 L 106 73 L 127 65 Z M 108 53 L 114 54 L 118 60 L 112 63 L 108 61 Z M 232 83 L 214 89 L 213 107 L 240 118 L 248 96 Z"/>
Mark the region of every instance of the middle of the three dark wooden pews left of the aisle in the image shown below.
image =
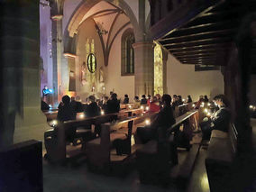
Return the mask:
<path id="1" fill-rule="evenodd" d="M 123 121 L 102 124 L 101 136 L 87 142 L 86 153 L 90 168 L 102 169 L 109 166 L 111 162 L 123 161 L 133 154 L 131 146 L 132 134 L 135 133 L 136 124 L 140 124 L 145 119 L 154 118 L 156 113 L 147 113 L 128 117 Z M 132 123 L 133 122 L 133 123 Z M 126 140 L 130 148 L 128 154 L 117 155 L 113 142 L 117 139 Z"/>

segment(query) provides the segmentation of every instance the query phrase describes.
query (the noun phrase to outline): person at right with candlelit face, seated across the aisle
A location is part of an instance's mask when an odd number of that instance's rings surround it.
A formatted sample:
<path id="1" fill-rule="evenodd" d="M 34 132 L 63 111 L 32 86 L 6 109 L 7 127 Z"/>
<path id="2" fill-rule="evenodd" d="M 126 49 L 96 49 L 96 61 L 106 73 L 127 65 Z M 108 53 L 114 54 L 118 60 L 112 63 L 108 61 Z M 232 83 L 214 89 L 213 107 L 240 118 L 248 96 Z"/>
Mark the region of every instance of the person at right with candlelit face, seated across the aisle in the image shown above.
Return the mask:
<path id="1" fill-rule="evenodd" d="M 214 98 L 215 104 L 218 105 L 219 110 L 209 117 L 206 117 L 202 123 L 200 123 L 203 140 L 209 140 L 212 130 L 220 130 L 228 132 L 228 127 L 231 119 L 231 113 L 228 106 L 228 101 L 224 95 L 218 95 Z"/>

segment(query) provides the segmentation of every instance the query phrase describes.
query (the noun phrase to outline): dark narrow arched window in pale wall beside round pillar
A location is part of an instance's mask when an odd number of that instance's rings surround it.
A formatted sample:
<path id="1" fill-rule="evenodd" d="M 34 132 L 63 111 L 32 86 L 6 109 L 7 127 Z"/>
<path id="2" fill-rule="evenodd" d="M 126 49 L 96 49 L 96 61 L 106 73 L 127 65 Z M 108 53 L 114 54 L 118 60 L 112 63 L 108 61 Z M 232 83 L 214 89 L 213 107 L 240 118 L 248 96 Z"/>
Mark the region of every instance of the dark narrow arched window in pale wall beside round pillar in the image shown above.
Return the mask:
<path id="1" fill-rule="evenodd" d="M 134 75 L 134 50 L 133 43 L 135 42 L 133 29 L 127 29 L 122 35 L 122 62 L 121 75 Z"/>

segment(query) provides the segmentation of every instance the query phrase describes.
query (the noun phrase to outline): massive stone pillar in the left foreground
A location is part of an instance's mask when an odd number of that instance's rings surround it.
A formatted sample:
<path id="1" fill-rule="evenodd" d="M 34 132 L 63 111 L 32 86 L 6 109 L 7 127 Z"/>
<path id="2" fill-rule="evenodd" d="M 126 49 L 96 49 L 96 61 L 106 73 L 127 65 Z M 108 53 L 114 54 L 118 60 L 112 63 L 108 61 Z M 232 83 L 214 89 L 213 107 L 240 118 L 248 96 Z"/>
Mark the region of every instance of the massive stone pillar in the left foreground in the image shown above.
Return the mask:
<path id="1" fill-rule="evenodd" d="M 39 0 L 0 3 L 0 147 L 43 140 L 49 126 L 41 112 Z"/>

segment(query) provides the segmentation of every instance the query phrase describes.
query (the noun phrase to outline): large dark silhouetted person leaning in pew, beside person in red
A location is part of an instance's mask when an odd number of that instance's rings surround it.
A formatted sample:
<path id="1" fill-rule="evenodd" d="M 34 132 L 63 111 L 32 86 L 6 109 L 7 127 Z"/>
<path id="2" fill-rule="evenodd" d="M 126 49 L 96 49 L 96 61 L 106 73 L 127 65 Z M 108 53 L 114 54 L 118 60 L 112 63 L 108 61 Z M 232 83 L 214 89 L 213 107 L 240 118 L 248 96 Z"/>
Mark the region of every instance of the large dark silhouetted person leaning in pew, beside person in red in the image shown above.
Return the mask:
<path id="1" fill-rule="evenodd" d="M 142 143 L 146 143 L 151 140 L 157 140 L 159 131 L 165 133 L 166 130 L 176 122 L 173 116 L 173 110 L 170 105 L 171 96 L 165 94 L 162 96 L 161 101 L 163 103 L 163 108 L 160 110 L 159 114 L 157 114 L 150 127 L 138 127 L 137 129 L 137 135 Z"/>

